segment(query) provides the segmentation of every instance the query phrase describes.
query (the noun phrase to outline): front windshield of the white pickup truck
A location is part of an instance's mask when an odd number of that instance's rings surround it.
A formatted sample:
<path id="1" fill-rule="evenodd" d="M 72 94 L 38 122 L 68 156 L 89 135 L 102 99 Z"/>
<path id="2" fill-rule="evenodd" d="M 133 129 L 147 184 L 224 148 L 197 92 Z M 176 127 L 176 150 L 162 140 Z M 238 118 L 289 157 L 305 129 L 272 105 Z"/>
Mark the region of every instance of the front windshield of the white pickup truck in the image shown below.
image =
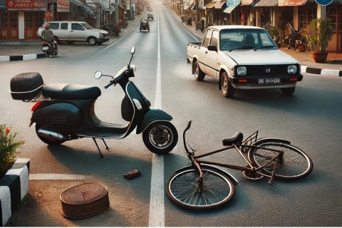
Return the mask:
<path id="1" fill-rule="evenodd" d="M 259 28 L 224 29 L 219 34 L 219 48 L 221 51 L 277 49 L 269 33 Z"/>

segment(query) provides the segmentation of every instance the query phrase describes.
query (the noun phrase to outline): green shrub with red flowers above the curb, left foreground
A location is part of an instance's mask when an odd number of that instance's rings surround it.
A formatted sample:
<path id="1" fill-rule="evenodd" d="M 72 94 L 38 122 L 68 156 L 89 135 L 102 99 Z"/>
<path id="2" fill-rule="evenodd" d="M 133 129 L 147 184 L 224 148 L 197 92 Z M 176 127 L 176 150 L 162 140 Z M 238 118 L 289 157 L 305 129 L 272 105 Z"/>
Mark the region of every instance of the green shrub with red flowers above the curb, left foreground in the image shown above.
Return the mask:
<path id="1" fill-rule="evenodd" d="M 0 177 L 6 174 L 16 161 L 16 149 L 24 141 L 16 140 L 16 133 L 11 133 L 6 125 L 0 125 Z"/>

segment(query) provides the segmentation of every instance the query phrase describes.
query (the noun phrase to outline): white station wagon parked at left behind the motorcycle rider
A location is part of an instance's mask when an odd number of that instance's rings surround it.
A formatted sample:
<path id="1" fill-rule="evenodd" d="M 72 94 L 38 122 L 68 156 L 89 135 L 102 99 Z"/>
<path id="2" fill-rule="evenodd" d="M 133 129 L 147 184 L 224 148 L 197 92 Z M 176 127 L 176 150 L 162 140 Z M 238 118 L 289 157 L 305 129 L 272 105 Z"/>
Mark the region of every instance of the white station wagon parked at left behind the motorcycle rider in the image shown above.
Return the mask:
<path id="1" fill-rule="evenodd" d="M 38 36 L 41 37 L 41 32 L 46 24 L 50 24 L 50 29 L 53 31 L 56 42 L 68 41 L 73 42 L 87 42 L 91 46 L 102 44 L 109 41 L 108 31 L 93 28 L 83 21 L 50 21 L 46 22 L 38 28 Z"/>

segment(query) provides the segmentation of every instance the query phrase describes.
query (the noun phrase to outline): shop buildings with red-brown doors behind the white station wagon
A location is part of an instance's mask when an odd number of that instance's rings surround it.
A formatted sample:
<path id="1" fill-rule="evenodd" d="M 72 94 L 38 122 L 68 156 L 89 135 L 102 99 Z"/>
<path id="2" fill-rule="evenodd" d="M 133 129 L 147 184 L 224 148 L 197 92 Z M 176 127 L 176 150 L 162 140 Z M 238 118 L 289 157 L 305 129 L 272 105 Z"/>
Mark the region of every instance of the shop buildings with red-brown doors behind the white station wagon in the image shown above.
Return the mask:
<path id="1" fill-rule="evenodd" d="M 46 21 L 86 21 L 100 28 L 135 14 L 135 0 L 0 0 L 0 41 L 39 41 Z"/>

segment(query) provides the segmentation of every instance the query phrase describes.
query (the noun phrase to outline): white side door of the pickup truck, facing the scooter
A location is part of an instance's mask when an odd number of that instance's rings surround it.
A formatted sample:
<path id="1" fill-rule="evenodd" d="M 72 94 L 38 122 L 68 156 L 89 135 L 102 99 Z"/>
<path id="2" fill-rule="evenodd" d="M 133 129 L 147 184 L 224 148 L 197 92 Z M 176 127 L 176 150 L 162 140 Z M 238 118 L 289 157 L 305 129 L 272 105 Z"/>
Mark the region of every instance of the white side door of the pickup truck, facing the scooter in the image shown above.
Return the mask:
<path id="1" fill-rule="evenodd" d="M 217 65 L 217 53 L 219 50 L 219 31 L 213 30 L 212 37 L 210 38 L 209 45 L 217 47 L 217 51 L 207 51 L 205 56 L 205 63 L 207 63 L 206 71 L 209 76 L 213 78 L 219 78 L 219 71 Z"/>

